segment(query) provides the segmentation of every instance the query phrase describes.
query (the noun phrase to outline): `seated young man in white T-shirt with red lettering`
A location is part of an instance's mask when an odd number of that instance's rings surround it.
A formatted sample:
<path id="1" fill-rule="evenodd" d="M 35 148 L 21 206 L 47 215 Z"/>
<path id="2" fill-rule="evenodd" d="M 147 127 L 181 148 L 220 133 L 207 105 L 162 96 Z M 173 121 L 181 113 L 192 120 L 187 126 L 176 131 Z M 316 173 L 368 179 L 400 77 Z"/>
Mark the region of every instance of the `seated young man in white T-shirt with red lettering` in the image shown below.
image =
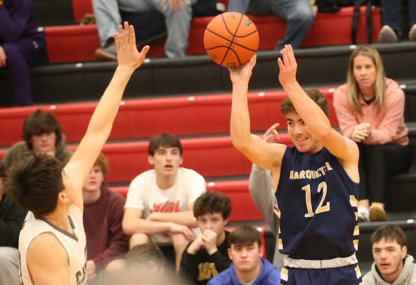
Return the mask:
<path id="1" fill-rule="evenodd" d="M 156 135 L 149 144 L 149 163 L 154 169 L 133 179 L 124 205 L 123 230 L 131 235 L 130 248 L 156 243 L 179 270 L 182 253 L 195 238 L 191 228 L 195 200 L 206 192 L 205 179 L 182 164 L 182 145 L 168 133 Z"/>

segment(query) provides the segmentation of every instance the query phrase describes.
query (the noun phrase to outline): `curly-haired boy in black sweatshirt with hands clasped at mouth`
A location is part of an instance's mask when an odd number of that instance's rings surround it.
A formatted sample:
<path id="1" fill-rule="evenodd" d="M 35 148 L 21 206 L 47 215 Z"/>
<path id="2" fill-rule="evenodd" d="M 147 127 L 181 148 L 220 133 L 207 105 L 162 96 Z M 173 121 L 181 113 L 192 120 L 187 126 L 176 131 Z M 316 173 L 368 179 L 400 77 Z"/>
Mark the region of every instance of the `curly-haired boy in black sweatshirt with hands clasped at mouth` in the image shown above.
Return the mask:
<path id="1" fill-rule="evenodd" d="M 202 234 L 188 244 L 182 255 L 181 273 L 195 284 L 205 285 L 218 273 L 230 267 L 228 258 L 228 224 L 230 198 L 220 192 L 208 191 L 196 199 L 193 214 Z"/>

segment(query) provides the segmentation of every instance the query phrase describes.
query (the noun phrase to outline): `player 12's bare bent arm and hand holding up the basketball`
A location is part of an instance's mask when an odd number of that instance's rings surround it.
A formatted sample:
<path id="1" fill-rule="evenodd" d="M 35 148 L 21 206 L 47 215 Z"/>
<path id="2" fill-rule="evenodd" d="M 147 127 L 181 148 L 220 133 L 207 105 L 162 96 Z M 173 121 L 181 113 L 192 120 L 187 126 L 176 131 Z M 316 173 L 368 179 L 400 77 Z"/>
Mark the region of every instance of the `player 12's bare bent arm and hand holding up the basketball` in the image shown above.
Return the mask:
<path id="1" fill-rule="evenodd" d="M 250 115 L 248 113 L 248 81 L 256 63 L 254 55 L 248 63 L 230 70 L 233 82 L 233 101 L 231 106 L 230 134 L 233 145 L 254 164 L 273 170 L 280 167 L 286 146 L 268 144 L 257 135 L 250 133 Z"/>

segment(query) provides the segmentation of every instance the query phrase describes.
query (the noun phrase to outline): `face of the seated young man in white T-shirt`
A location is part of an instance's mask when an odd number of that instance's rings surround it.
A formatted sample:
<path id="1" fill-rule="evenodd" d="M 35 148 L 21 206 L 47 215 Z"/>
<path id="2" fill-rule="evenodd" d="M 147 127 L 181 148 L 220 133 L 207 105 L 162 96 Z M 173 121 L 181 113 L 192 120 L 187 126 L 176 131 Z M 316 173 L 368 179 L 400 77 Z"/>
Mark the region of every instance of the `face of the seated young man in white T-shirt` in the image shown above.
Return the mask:
<path id="1" fill-rule="evenodd" d="M 149 156 L 149 163 L 154 166 L 156 174 L 176 175 L 182 164 L 181 152 L 178 147 L 159 147 L 153 156 Z"/>

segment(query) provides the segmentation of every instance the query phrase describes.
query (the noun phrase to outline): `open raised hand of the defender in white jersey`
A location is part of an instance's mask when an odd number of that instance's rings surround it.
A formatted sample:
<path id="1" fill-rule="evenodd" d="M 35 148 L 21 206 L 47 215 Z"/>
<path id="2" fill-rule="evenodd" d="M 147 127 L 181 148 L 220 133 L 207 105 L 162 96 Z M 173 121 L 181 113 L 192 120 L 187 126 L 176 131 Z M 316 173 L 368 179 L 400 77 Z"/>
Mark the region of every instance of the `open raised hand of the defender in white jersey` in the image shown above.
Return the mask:
<path id="1" fill-rule="evenodd" d="M 123 26 L 119 25 L 119 35 L 114 34 L 114 39 L 116 41 L 119 67 L 134 71 L 144 61 L 144 57 L 146 57 L 150 47 L 145 46 L 141 52 L 137 50 L 134 27 L 129 25 L 128 22 L 124 22 L 124 32 Z"/>

